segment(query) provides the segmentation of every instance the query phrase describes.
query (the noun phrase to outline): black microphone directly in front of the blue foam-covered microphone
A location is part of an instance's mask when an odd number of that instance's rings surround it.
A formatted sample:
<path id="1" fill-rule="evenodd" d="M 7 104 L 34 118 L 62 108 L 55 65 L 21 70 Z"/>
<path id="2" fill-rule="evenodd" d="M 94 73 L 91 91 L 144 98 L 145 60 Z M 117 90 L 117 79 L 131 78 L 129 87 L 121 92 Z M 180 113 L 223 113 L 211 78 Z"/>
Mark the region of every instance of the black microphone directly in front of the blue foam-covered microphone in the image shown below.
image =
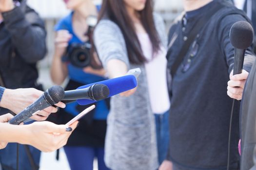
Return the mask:
<path id="1" fill-rule="evenodd" d="M 64 92 L 63 101 L 73 101 L 79 99 L 90 99 L 101 101 L 108 97 L 109 88 L 107 85 L 94 84 L 83 89 L 68 90 Z"/>

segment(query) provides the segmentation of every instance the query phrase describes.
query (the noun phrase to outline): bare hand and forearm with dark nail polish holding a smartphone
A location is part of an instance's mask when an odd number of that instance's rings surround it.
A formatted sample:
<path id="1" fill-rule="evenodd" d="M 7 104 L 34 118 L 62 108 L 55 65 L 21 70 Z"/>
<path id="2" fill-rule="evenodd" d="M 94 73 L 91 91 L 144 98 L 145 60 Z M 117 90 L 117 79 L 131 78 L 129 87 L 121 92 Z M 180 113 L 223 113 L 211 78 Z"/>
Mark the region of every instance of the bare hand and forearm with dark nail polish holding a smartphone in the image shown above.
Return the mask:
<path id="1" fill-rule="evenodd" d="M 64 146 L 68 137 L 76 129 L 78 121 L 70 127 L 57 125 L 52 122 L 34 122 L 29 125 L 11 125 L 3 123 L 12 116 L 10 114 L 0 116 L 0 149 L 6 147 L 8 142 L 17 142 L 36 147 L 43 152 L 52 152 Z"/>

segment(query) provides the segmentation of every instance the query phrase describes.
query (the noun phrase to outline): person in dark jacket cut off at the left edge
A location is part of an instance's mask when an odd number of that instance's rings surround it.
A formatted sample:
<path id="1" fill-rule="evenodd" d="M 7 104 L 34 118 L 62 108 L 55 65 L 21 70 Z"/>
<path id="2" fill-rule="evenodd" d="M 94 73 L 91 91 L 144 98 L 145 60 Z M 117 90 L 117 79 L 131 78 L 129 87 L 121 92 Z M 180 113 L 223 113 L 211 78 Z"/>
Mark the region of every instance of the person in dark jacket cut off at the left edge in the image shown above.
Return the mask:
<path id="1" fill-rule="evenodd" d="M 38 14 L 26 0 L 0 0 L 0 86 L 10 89 L 34 87 L 37 84 L 37 62 L 45 56 L 46 32 Z M 1 109 L 1 114 L 9 112 Z M 30 148 L 33 161 L 39 165 L 40 152 Z M 31 161 L 31 159 L 30 159 Z M 3 170 L 16 169 L 16 145 L 0 151 Z M 20 170 L 31 170 L 23 146 L 20 147 Z"/>

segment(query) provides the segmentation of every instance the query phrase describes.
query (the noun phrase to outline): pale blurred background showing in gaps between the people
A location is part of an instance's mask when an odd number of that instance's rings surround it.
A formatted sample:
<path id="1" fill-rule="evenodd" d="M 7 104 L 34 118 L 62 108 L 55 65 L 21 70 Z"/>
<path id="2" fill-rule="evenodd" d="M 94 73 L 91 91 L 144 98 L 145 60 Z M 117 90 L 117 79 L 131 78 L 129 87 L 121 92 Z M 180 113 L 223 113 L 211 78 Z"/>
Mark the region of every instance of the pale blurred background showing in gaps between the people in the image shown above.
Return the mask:
<path id="1" fill-rule="evenodd" d="M 101 3 L 101 0 L 94 0 L 95 3 Z M 53 85 L 49 75 L 49 68 L 52 62 L 54 52 L 54 25 L 61 18 L 69 13 L 65 8 L 63 0 L 28 0 L 28 4 L 34 8 L 44 19 L 47 31 L 47 56 L 39 62 L 39 82 L 48 88 Z M 182 11 L 182 2 L 180 0 L 155 0 L 155 11 L 161 14 L 166 22 L 166 32 L 171 22 Z M 59 161 L 56 161 L 56 152 L 42 153 L 40 161 L 40 170 L 69 170 L 66 155 L 60 150 Z M 95 170 L 97 163 L 95 161 Z"/>

